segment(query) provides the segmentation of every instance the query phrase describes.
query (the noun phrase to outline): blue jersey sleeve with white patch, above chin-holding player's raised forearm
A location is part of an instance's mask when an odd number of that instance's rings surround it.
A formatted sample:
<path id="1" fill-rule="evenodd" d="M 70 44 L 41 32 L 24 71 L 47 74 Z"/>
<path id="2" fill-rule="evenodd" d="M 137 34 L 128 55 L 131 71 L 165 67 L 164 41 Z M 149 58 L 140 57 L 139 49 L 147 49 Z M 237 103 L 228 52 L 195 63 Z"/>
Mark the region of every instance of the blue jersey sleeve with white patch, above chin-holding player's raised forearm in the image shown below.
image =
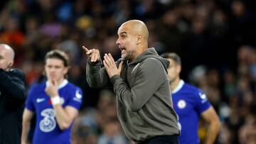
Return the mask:
<path id="1" fill-rule="evenodd" d="M 68 99 L 68 106 L 73 106 L 75 109 L 80 109 L 82 105 L 82 90 L 79 87 L 75 87 L 71 92 L 71 96 Z"/>

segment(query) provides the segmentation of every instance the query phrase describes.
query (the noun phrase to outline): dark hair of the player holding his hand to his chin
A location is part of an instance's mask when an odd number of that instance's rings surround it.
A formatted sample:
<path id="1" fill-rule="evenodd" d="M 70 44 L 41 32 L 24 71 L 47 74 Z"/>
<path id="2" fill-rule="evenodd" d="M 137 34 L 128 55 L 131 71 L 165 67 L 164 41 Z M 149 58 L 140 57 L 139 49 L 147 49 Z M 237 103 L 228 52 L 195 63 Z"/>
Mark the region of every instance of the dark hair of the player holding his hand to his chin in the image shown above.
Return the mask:
<path id="1" fill-rule="evenodd" d="M 45 61 L 48 58 L 56 58 L 62 60 L 65 67 L 69 66 L 68 55 L 66 55 L 65 52 L 61 50 L 50 50 L 50 52 L 46 53 Z"/>

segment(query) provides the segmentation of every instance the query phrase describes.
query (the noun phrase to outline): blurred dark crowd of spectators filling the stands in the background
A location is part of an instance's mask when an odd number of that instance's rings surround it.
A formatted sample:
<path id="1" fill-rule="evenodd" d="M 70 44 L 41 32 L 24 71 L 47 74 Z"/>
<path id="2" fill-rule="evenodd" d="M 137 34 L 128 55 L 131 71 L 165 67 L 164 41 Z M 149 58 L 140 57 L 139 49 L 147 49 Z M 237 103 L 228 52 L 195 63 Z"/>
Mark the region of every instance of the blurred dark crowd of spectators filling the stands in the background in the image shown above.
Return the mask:
<path id="1" fill-rule="evenodd" d="M 216 143 L 256 143 L 256 2 L 250 0 L 1 0 L 0 43 L 16 52 L 28 89 L 45 79 L 44 56 L 64 50 L 68 80 L 85 94 L 73 143 L 130 143 L 110 89 L 91 89 L 82 45 L 120 57 L 117 28 L 139 19 L 149 47 L 181 56 L 181 78 L 206 92 L 222 126 Z M 206 135 L 204 123 L 198 131 Z"/>

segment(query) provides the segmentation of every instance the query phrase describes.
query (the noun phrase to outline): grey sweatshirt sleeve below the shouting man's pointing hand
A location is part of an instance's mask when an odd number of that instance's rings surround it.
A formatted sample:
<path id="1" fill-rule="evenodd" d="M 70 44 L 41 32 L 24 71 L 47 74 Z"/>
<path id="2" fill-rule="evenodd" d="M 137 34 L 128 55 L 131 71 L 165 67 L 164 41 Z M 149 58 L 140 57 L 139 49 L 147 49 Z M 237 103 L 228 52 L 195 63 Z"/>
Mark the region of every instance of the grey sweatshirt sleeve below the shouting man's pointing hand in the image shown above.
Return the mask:
<path id="1" fill-rule="evenodd" d="M 107 87 L 110 84 L 105 67 L 102 67 L 102 60 L 97 63 L 87 60 L 86 79 L 89 86 L 94 88 Z"/>

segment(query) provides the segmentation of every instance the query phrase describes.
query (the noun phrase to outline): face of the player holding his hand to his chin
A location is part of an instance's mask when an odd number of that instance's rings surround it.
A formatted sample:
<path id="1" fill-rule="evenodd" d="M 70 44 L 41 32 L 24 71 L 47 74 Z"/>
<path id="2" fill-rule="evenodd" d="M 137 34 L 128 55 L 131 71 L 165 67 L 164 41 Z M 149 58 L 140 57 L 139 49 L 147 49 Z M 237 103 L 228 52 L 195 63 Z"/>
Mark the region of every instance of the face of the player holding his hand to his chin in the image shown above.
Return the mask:
<path id="1" fill-rule="evenodd" d="M 63 60 L 48 58 L 46 60 L 45 71 L 47 79 L 59 82 L 67 74 L 68 67 L 64 66 Z"/>

